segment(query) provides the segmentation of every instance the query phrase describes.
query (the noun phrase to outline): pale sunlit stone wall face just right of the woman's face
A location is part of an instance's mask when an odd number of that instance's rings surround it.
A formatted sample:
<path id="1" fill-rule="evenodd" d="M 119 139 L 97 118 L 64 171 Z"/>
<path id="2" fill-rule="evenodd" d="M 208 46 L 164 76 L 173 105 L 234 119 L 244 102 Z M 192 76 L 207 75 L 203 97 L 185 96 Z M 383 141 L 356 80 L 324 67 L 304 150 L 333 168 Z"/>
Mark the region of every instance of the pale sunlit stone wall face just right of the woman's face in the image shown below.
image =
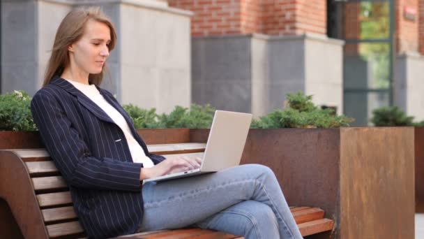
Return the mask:
<path id="1" fill-rule="evenodd" d="M 122 103 L 159 112 L 189 106 L 190 17 L 129 4 L 120 15 Z"/>

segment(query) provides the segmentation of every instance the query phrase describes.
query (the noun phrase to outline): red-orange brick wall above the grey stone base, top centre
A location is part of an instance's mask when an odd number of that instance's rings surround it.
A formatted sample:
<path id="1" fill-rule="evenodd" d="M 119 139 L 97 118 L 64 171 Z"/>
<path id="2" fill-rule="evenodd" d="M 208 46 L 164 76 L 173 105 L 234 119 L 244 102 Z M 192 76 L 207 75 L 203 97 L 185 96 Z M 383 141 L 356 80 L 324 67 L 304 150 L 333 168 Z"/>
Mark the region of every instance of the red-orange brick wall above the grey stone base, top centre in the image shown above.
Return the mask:
<path id="1" fill-rule="evenodd" d="M 192 36 L 326 34 L 326 0 L 168 0 L 191 10 Z"/>

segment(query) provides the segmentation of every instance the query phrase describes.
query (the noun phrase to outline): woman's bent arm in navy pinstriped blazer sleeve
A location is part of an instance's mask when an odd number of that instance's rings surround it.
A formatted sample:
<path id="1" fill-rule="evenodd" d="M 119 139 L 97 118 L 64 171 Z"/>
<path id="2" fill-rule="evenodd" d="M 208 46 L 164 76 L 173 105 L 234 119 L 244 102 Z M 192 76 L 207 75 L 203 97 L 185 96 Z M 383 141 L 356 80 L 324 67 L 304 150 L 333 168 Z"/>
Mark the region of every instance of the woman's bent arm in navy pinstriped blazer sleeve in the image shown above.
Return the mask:
<path id="1" fill-rule="evenodd" d="M 142 164 L 93 157 L 51 92 L 38 92 L 31 101 L 31 111 L 47 151 L 68 184 L 140 191 Z"/>

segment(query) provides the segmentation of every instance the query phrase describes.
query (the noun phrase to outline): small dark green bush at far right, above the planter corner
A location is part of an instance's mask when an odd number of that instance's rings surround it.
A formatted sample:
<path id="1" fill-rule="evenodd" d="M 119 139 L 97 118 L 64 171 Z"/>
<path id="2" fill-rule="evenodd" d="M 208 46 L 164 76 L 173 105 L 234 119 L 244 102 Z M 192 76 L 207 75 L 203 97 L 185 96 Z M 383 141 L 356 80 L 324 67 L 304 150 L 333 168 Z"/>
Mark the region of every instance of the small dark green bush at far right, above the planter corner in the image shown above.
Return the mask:
<path id="1" fill-rule="evenodd" d="M 372 110 L 371 122 L 375 126 L 413 126 L 414 117 L 407 116 L 397 106 Z M 422 123 L 422 122 L 421 122 Z M 421 124 L 418 123 L 418 124 Z"/>

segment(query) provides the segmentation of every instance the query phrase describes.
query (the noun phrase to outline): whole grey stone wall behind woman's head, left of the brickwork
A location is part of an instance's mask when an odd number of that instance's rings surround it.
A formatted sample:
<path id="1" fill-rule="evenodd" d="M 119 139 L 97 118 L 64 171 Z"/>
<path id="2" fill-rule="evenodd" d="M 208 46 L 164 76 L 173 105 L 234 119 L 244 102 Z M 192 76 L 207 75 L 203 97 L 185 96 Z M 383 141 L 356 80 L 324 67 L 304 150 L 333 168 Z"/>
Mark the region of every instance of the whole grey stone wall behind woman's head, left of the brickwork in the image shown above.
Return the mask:
<path id="1" fill-rule="evenodd" d="M 157 0 L 1 1 L 2 93 L 40 89 L 57 27 L 82 5 L 101 6 L 118 34 L 101 87 L 159 113 L 190 105 L 191 13 Z"/>

